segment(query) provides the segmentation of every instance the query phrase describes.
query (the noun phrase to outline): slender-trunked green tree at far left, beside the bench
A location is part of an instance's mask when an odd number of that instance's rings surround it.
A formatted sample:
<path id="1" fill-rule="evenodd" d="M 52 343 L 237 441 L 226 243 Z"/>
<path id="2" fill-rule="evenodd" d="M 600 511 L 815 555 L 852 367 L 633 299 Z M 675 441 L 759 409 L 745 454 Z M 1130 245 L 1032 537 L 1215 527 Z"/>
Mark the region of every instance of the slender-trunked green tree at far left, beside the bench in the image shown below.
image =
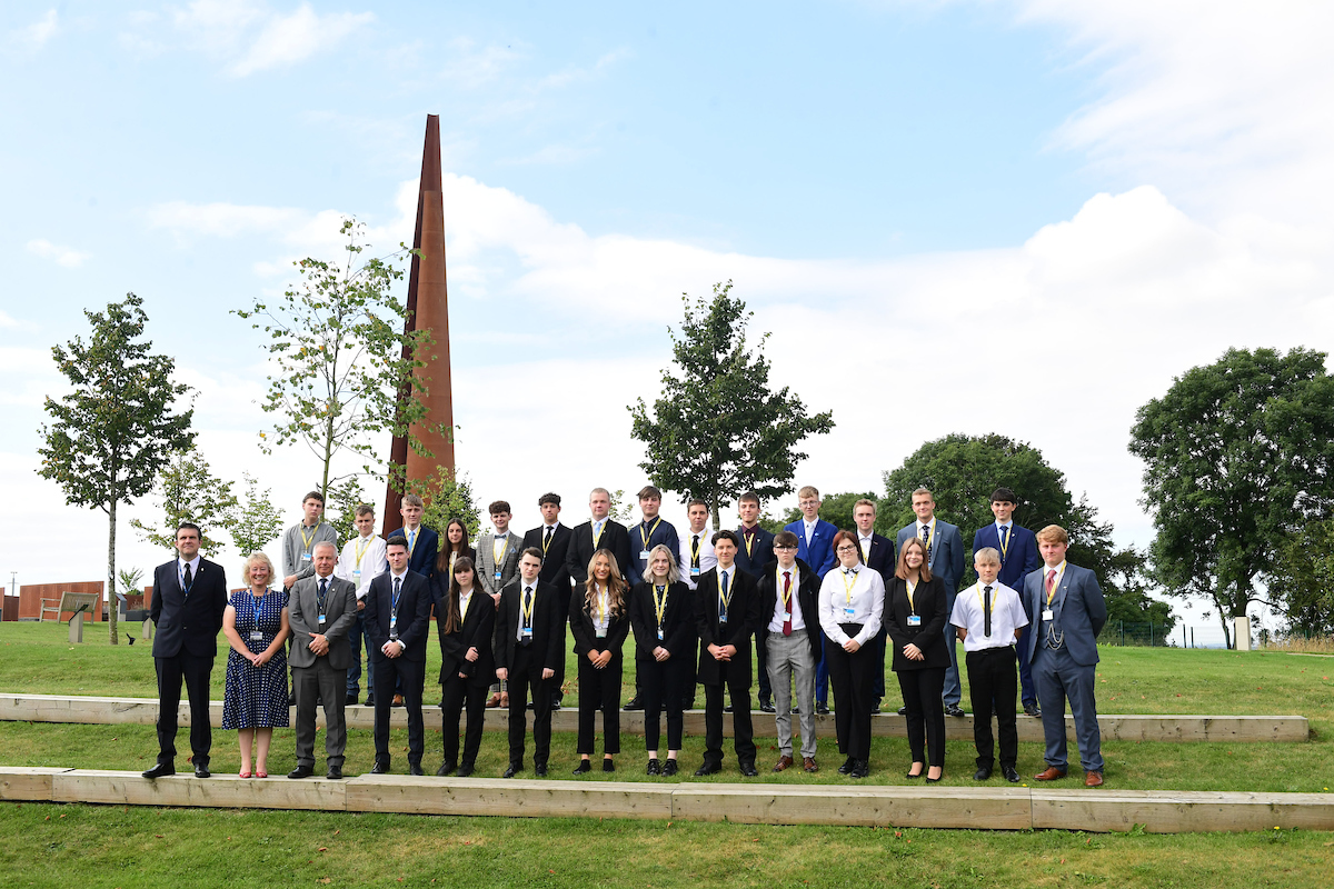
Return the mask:
<path id="1" fill-rule="evenodd" d="M 116 508 L 152 488 L 173 453 L 195 443 L 193 408 L 172 413 L 189 387 L 172 383 L 175 361 L 151 355 L 143 339 L 148 316 L 143 300 L 127 293 L 105 313 L 84 312 L 89 341 L 75 337 L 51 348 L 56 367 L 73 392 L 59 401 L 47 396 L 52 419 L 43 424 L 37 474 L 59 484 L 71 506 L 107 513 L 107 590 L 116 589 Z M 116 609 L 111 609 L 111 644 L 117 645 Z"/>

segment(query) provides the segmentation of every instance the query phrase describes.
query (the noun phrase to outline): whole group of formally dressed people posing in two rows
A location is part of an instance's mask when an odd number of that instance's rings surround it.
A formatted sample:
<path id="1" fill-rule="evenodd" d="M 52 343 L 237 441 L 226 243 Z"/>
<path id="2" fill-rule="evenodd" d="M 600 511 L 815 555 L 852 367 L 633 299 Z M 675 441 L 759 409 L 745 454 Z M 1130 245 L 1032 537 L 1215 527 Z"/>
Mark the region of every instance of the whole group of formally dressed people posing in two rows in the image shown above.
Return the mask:
<path id="1" fill-rule="evenodd" d="M 871 500 L 855 504 L 855 528 L 847 530 L 819 518 L 815 488 L 802 488 L 798 501 L 802 517 L 774 534 L 759 525 L 754 493 L 739 498 L 739 528 L 712 533 L 707 504 L 691 500 L 690 526 L 678 533 L 659 514 L 662 492 L 651 485 L 639 492 L 642 520 L 631 528 L 610 517 L 611 497 L 603 488 L 591 492 L 590 518 L 575 528 L 559 521 L 560 497 L 548 493 L 539 498 L 543 524 L 523 537 L 510 530 L 510 504 L 492 502 L 494 530 L 470 546 L 459 520 L 450 521 L 443 541 L 422 525 L 423 502 L 410 494 L 402 504 L 403 528 L 386 538 L 374 532 L 371 506 L 359 506 L 358 536 L 339 550 L 338 534 L 321 521 L 323 498 L 312 492 L 303 502 L 303 521 L 283 540 L 281 585 L 273 582 L 269 560 L 255 553 L 244 564 L 245 589 L 229 597 L 221 568 L 199 557 L 199 529 L 181 525 L 179 557 L 157 568 L 153 578 L 160 752 L 144 776 L 175 772 L 184 681 L 192 764 L 196 776 L 208 777 L 208 676 L 219 629 L 231 645 L 223 728 L 239 732 L 241 777 L 267 776 L 272 729 L 288 725 L 288 668 L 296 705 L 296 768 L 288 777 L 313 774 L 320 705 L 327 777 L 342 777 L 344 708 L 359 700 L 363 641 L 367 704 L 375 708 L 371 772 L 390 770 L 391 708 L 402 704 L 408 773 L 423 774 L 422 700 L 434 620 L 442 654 L 440 776 L 472 774 L 487 705 L 500 702 L 508 709 L 504 777 L 524 770 L 530 706 L 534 772 L 547 773 L 568 630 L 578 662 L 575 774 L 592 770 L 599 712 L 602 770 L 615 772 L 624 646 L 634 636 L 635 694 L 626 709 L 644 710 L 648 774 L 678 773 L 683 710 L 694 705 L 696 685 L 704 686 L 706 732 L 695 774 L 722 770 L 727 710 L 739 770 L 758 774 L 754 640 L 759 705 L 775 714 L 774 772 L 798 762 L 806 772 L 819 770 L 815 717 L 830 713 L 832 688 L 835 736 L 846 757 L 838 770 L 854 778 L 870 774 L 871 720 L 884 696 L 888 656 L 907 722 L 907 777 L 936 782 L 944 769 L 944 717 L 963 716 L 955 645 L 962 641 L 978 753 L 974 778 L 990 778 L 996 765 L 995 716 L 1000 773 L 1019 780 L 1022 690 L 1023 712 L 1042 718 L 1046 737 L 1046 769 L 1035 778 L 1057 780 L 1069 770 L 1069 702 L 1085 784 L 1102 784 L 1094 677 L 1106 606 L 1093 572 L 1065 561 L 1069 538 L 1062 528 L 1034 534 L 1015 525 L 1014 492 L 996 489 L 996 521 L 974 536 L 978 581 L 959 589 L 962 536 L 935 517 L 930 490 L 912 493 L 916 521 L 894 542 L 874 532 Z"/>

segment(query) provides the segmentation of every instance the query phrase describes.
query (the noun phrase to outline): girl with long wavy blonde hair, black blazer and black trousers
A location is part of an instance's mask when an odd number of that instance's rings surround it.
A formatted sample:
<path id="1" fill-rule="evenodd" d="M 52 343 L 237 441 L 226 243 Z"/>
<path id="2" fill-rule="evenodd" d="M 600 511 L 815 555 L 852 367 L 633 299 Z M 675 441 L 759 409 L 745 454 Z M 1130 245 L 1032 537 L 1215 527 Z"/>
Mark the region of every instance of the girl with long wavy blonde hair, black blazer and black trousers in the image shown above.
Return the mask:
<path id="1" fill-rule="evenodd" d="M 575 774 L 592 770 L 594 724 L 602 709 L 602 770 L 615 772 L 620 753 L 620 649 L 630 636 L 628 586 L 616 557 L 599 549 L 588 560 L 588 580 L 570 601 L 570 632 L 579 661 L 579 765 Z"/>

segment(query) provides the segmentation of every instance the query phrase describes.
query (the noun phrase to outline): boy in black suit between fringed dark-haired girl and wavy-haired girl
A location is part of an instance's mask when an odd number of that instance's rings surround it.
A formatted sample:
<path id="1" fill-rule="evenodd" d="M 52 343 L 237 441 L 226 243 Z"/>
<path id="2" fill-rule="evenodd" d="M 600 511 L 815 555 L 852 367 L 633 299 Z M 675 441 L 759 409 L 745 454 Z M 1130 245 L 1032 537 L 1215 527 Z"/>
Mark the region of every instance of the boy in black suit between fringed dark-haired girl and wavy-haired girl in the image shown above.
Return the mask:
<path id="1" fill-rule="evenodd" d="M 528 730 L 524 701 L 532 686 L 532 769 L 547 774 L 551 757 L 551 680 L 566 658 L 566 625 L 560 621 L 559 597 L 570 598 L 539 578 L 542 550 L 524 549 L 519 576 L 500 590 L 496 610 L 494 654 L 496 677 L 510 682 L 510 766 L 504 777 L 523 770 L 523 737 Z M 567 604 L 568 608 L 568 604 Z"/>

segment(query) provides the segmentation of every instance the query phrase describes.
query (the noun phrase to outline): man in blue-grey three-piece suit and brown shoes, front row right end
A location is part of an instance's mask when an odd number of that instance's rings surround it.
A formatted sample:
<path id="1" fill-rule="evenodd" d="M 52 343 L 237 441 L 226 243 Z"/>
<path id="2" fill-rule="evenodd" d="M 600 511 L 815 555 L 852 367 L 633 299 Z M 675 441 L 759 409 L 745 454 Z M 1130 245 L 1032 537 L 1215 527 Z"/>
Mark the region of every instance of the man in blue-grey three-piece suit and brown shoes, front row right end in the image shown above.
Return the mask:
<path id="1" fill-rule="evenodd" d="M 1042 568 L 1023 578 L 1023 608 L 1029 612 L 1029 660 L 1042 734 L 1047 741 L 1047 768 L 1038 781 L 1066 777 L 1066 701 L 1075 717 L 1079 762 L 1085 786 L 1102 786 L 1102 734 L 1094 684 L 1098 670 L 1098 633 L 1107 622 L 1107 604 L 1098 578 L 1087 568 L 1066 562 L 1070 537 L 1065 528 L 1047 525 L 1038 532 Z"/>

